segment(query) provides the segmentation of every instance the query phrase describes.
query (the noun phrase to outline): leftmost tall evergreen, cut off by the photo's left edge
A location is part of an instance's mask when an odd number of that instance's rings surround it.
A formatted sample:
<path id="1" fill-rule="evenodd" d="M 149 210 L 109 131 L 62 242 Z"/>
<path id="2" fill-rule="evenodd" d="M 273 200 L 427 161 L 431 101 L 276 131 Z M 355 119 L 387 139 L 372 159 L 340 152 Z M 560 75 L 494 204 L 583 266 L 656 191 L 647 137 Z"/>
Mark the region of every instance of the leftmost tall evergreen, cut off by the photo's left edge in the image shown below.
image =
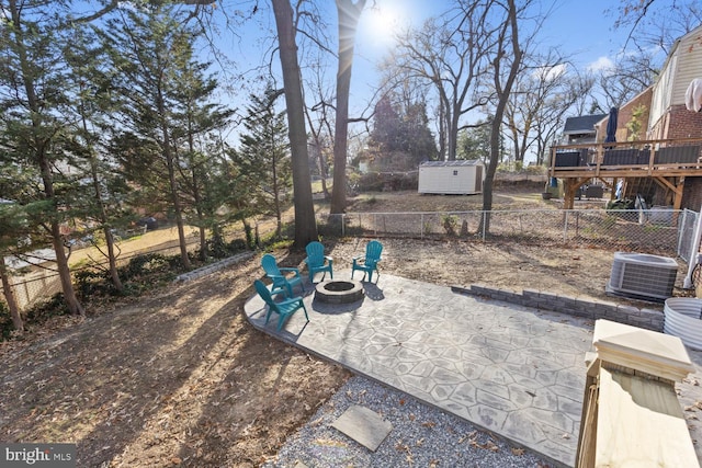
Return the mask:
<path id="1" fill-rule="evenodd" d="M 56 252 L 64 299 L 71 313 L 82 315 L 76 296 L 64 227 L 71 219 L 71 198 L 78 180 L 70 174 L 72 115 L 63 46 L 68 16 L 66 3 L 14 0 L 2 2 L 0 28 L 0 164 L 22 169 L 27 181 L 15 202 L 46 201 L 38 225 Z M 33 239 L 41 247 L 42 239 Z"/>

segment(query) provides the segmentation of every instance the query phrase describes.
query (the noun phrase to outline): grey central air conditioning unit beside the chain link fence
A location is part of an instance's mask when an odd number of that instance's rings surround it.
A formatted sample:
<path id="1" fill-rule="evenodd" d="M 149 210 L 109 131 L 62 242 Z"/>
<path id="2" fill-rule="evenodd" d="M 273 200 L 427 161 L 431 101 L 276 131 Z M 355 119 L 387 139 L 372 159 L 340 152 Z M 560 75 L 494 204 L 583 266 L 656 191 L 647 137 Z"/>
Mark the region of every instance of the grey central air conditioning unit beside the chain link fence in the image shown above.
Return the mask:
<path id="1" fill-rule="evenodd" d="M 615 252 L 607 293 L 663 303 L 672 296 L 678 262 L 646 253 Z"/>

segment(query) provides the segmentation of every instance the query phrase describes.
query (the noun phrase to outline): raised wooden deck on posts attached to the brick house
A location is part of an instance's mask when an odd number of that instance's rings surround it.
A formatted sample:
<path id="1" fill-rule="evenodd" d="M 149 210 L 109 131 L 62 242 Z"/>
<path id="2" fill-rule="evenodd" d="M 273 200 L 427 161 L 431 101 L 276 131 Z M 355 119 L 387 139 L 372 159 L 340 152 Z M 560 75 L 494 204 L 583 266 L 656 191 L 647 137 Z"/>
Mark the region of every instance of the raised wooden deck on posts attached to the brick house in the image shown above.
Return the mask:
<path id="1" fill-rule="evenodd" d="M 578 189 L 588 182 L 602 183 L 613 197 L 620 180 L 633 184 L 642 179 L 670 191 L 673 209 L 680 209 L 684 179 L 702 176 L 701 149 L 702 138 L 555 146 L 550 176 L 563 180 L 566 209 L 573 209 Z"/>

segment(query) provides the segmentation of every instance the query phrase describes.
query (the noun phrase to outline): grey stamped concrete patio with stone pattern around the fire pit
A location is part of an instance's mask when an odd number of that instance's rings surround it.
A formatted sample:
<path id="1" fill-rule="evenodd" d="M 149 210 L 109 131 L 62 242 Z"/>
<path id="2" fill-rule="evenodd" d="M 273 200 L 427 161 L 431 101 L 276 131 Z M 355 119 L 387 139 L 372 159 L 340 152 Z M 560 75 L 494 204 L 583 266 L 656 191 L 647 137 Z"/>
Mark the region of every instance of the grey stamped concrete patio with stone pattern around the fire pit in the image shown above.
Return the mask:
<path id="1" fill-rule="evenodd" d="M 336 272 L 348 279 L 350 271 Z M 275 331 L 258 297 L 250 322 L 275 338 L 524 446 L 559 466 L 574 466 L 585 389 L 585 353 L 593 322 L 564 313 L 454 293 L 452 288 L 381 274 L 349 305 L 314 300 L 309 322 L 296 312 Z M 698 372 L 680 385 L 683 407 L 702 401 Z M 699 410 L 697 408 L 695 410 Z M 693 435 L 700 433 L 690 420 Z M 698 456 L 700 450 L 698 449 Z"/>

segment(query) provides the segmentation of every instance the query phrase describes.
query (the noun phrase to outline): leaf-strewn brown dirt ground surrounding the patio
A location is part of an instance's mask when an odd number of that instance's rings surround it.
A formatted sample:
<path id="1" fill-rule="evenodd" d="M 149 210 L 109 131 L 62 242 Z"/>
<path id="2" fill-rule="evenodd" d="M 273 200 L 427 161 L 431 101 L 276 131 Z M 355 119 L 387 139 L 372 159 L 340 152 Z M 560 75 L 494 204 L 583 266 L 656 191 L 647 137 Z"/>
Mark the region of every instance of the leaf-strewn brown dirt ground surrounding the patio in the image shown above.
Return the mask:
<path id="1" fill-rule="evenodd" d="M 465 209 L 473 202 L 466 198 L 377 194 L 371 205 Z M 367 199 L 359 197 L 350 210 Z M 513 193 L 499 203 L 554 202 Z M 342 269 L 366 241 L 326 244 Z M 598 250 L 461 240 L 383 243 L 382 273 L 601 298 L 612 259 Z M 301 266 L 304 258 L 275 254 L 286 266 Z M 77 443 L 81 467 L 253 467 L 273 457 L 349 373 L 249 326 L 244 304 L 262 276 L 259 261 L 89 310 L 84 319 L 56 318 L 23 341 L 0 343 L 0 440 Z"/>

